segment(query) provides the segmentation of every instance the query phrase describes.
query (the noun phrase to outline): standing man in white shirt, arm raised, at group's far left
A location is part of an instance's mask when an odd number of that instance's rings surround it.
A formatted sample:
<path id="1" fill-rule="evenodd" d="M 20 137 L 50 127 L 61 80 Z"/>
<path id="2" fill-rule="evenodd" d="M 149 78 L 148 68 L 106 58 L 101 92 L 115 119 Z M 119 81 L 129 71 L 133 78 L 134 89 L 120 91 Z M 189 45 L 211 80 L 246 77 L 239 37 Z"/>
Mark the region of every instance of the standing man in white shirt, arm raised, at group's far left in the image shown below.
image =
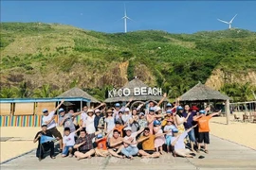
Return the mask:
<path id="1" fill-rule="evenodd" d="M 60 152 L 63 150 L 63 137 L 60 131 L 56 127 L 56 122 L 55 122 L 55 112 L 58 110 L 64 103 L 64 100 L 52 111 L 48 112 L 48 110 L 44 109 L 43 110 L 43 123 L 47 125 L 47 130 L 50 131 L 53 136 L 56 139 L 59 139 L 60 143 Z"/>

